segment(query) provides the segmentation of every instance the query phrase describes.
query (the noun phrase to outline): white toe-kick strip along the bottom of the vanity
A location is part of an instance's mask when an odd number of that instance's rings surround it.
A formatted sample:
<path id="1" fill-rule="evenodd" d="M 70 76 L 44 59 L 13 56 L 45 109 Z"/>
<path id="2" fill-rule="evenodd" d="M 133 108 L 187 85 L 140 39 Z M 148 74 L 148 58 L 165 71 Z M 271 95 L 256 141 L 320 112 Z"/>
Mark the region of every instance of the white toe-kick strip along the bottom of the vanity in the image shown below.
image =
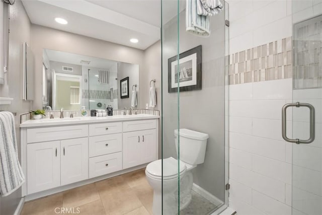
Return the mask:
<path id="1" fill-rule="evenodd" d="M 87 180 L 84 180 L 84 181 L 79 181 L 79 182 L 76 182 L 76 183 L 73 183 L 73 184 L 67 184 L 67 185 L 64 185 L 64 186 L 52 188 L 52 189 L 49 189 L 49 190 L 44 190 L 44 191 L 37 192 L 37 193 L 32 193 L 32 194 L 29 194 L 29 195 L 25 196 L 25 201 L 34 200 L 34 199 L 37 199 L 37 198 L 41 198 L 41 197 L 44 197 L 44 196 L 48 196 L 48 195 L 52 195 L 52 194 L 55 194 L 55 193 L 58 193 L 58 192 L 69 190 L 69 189 L 72 189 L 72 188 L 75 188 L 75 187 L 79 187 L 79 186 L 91 184 L 91 183 L 94 183 L 94 182 L 97 182 L 97 181 L 112 178 L 112 177 L 115 177 L 115 176 L 118 176 L 118 175 L 122 175 L 122 174 L 125 174 L 125 173 L 128 173 L 128 172 L 132 172 L 134 170 L 145 168 L 146 165 L 147 164 L 143 164 L 143 165 L 139 165 L 139 166 L 136 166 L 136 167 L 131 167 L 131 168 L 128 168 L 128 169 L 125 169 L 125 170 L 121 170 L 121 171 L 118 171 L 118 172 L 110 173 L 110 174 L 107 174 L 107 175 L 98 176 L 96 178 L 91 178 L 91 179 L 87 179 Z"/>

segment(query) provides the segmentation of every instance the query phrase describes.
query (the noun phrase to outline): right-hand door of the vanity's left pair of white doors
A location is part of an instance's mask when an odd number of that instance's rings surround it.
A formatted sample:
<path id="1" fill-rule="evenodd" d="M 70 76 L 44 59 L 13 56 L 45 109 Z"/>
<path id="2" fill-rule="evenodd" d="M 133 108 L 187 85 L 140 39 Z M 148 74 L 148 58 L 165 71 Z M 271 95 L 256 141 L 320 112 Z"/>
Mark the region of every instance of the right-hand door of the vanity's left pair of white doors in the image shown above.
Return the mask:
<path id="1" fill-rule="evenodd" d="M 61 140 L 61 185 L 89 177 L 88 137 Z"/>

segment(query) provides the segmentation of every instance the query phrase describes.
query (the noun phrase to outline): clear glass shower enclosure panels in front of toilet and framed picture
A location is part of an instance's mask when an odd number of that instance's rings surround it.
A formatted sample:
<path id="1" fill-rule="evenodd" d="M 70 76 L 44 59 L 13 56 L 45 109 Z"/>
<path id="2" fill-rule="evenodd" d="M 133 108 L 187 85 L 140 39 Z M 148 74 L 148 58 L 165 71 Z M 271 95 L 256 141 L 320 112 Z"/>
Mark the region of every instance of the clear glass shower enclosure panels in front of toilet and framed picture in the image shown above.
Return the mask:
<path id="1" fill-rule="evenodd" d="M 203 37 L 187 31 L 193 2 L 162 1 L 163 194 L 154 214 L 218 214 L 228 204 L 228 4 Z"/>

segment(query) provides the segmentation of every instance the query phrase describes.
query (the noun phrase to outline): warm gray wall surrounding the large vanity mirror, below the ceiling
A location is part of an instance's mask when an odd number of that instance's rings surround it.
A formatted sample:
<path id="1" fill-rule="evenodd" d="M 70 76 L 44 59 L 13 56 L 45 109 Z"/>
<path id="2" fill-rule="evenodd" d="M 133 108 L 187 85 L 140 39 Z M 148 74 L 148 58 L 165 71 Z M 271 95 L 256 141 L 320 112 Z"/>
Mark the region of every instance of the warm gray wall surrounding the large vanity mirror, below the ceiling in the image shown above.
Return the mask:
<path id="1" fill-rule="evenodd" d="M 139 79 L 141 80 L 144 77 L 144 71 L 141 72 L 143 51 L 140 49 L 34 24 L 31 25 L 31 38 L 32 49 L 35 54 L 36 77 L 36 95 L 33 108 L 42 107 L 42 52 L 44 48 L 138 64 L 140 69 Z M 141 85 L 146 84 L 141 81 L 140 83 Z M 144 99 L 139 101 L 140 106 L 142 102 L 144 103 Z"/>

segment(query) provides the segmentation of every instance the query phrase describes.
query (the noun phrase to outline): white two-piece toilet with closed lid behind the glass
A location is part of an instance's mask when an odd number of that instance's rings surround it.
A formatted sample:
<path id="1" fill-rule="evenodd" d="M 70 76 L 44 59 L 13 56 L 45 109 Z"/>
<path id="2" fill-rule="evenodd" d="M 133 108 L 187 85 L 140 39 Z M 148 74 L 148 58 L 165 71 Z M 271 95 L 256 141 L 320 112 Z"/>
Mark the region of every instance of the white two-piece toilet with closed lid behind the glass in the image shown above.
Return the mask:
<path id="1" fill-rule="evenodd" d="M 149 163 L 145 176 L 153 188 L 153 214 L 178 213 L 178 172 L 180 173 L 180 210 L 191 201 L 193 175 L 191 170 L 205 159 L 209 135 L 189 129 L 180 129 L 180 161 L 170 157 Z M 175 144 L 178 154 L 178 130 L 175 130 Z M 162 177 L 163 174 L 163 177 Z M 163 185 L 162 185 L 163 179 Z M 164 207 L 162 208 L 162 198 Z"/>

